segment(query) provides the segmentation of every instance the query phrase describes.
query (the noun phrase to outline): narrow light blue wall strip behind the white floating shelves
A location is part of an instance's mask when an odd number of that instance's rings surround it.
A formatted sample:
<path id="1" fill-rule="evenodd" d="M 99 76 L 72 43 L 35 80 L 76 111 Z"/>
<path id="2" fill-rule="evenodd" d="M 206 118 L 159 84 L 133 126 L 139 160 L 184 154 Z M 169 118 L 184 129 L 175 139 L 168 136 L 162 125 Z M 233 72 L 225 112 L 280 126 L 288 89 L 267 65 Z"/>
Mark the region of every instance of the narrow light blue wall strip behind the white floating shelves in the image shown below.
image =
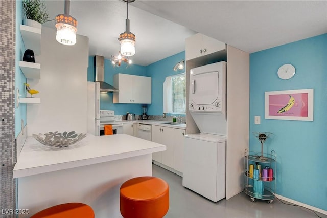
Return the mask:
<path id="1" fill-rule="evenodd" d="M 24 90 L 24 82 L 26 78 L 19 68 L 19 61 L 22 60 L 22 54 L 25 52 L 24 42 L 22 41 L 20 34 L 20 25 L 24 19 L 24 12 L 22 9 L 22 1 L 16 1 L 16 73 L 15 73 L 15 83 L 16 89 L 19 89 L 20 97 L 26 97 L 26 91 Z M 16 91 L 16 90 L 15 90 Z M 17 106 L 17 105 L 16 105 Z M 26 104 L 19 104 L 18 108 L 15 108 L 15 138 L 21 132 L 21 120 L 24 121 L 24 126 L 26 125 Z"/>

